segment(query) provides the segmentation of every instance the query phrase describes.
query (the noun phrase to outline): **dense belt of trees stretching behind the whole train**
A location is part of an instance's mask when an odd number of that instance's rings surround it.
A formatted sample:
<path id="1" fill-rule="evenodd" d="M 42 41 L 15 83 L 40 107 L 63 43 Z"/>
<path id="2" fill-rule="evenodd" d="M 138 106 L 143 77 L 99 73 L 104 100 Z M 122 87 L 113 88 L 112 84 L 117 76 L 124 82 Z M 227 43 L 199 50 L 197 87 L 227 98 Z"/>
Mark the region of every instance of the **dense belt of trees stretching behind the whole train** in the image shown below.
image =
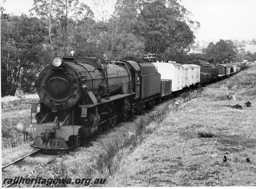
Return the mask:
<path id="1" fill-rule="evenodd" d="M 36 73 L 55 55 L 143 62 L 150 52 L 154 61 L 201 65 L 239 53 L 232 41 L 220 40 L 202 54 L 188 54 L 200 24 L 177 0 L 117 0 L 109 16 L 107 2 L 94 4 L 97 18 L 79 0 L 34 0 L 29 15 L 21 16 L 1 7 L 1 96 L 34 93 Z"/>

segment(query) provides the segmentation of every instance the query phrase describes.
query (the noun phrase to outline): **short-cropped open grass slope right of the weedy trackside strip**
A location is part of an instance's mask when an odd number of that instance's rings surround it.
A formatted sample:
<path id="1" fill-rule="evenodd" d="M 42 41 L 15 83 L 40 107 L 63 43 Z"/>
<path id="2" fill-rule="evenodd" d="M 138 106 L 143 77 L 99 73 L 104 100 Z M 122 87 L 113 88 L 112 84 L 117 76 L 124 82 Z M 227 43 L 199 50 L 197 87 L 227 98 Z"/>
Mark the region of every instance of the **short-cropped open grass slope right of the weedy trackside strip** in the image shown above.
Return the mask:
<path id="1" fill-rule="evenodd" d="M 238 76 L 246 79 L 243 71 Z M 227 80 L 232 82 L 236 76 Z M 235 104 L 223 98 L 218 84 L 212 85 L 204 88 L 199 98 L 167 113 L 161 123 L 149 124 L 158 127 L 131 154 L 123 156 L 108 186 L 256 185 L 256 162 L 246 163 L 248 156 L 256 155 L 255 110 L 223 107 Z M 250 86 L 238 84 L 238 89 L 245 99 L 256 103 Z M 198 131 L 202 136 L 216 136 L 199 137 Z"/>

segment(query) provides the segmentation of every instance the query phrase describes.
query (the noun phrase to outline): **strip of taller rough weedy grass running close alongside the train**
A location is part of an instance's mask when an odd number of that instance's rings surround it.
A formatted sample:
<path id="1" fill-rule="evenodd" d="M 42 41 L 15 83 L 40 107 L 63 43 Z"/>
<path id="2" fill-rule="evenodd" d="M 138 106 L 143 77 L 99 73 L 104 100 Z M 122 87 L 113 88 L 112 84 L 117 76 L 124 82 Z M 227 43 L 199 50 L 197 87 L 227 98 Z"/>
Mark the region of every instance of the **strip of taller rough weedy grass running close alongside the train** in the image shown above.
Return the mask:
<path id="1" fill-rule="evenodd" d="M 196 98 L 198 94 L 197 91 L 190 91 L 172 101 L 157 105 L 153 110 L 147 111 L 144 115 L 136 116 L 130 122 L 120 123 L 118 127 L 107 131 L 106 135 L 98 136 L 95 141 L 91 142 L 91 145 L 77 148 L 77 152 L 71 152 L 70 155 L 67 155 L 67 159 L 64 158 L 63 160 L 67 174 L 73 179 L 106 178 L 108 183 L 109 179 L 119 171 L 124 157 L 129 156 L 139 148 L 148 136 L 155 134 L 161 122 L 166 118 L 166 113 L 174 110 L 172 106 L 174 102 L 179 102 L 180 109 L 186 106 L 187 101 Z M 136 162 L 138 163 L 137 160 Z M 57 162 L 56 169 L 60 169 L 60 162 Z M 47 172 L 46 169 L 42 170 L 42 168 L 34 171 L 40 172 L 40 176 Z"/>

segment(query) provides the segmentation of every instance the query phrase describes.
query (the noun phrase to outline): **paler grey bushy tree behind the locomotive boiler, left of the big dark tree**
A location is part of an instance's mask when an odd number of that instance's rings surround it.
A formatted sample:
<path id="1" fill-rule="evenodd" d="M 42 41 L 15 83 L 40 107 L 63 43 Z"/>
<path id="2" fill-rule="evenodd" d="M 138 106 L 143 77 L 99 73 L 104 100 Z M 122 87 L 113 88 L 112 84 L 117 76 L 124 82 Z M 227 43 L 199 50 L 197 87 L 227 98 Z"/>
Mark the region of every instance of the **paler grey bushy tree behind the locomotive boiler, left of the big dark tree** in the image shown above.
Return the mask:
<path id="1" fill-rule="evenodd" d="M 128 4 L 117 2 L 114 14 L 106 22 L 98 21 L 92 26 L 90 33 L 94 34 L 90 47 L 95 47 L 95 53 L 103 58 L 142 59 L 144 38 L 134 33 L 136 16 L 133 6 Z"/>

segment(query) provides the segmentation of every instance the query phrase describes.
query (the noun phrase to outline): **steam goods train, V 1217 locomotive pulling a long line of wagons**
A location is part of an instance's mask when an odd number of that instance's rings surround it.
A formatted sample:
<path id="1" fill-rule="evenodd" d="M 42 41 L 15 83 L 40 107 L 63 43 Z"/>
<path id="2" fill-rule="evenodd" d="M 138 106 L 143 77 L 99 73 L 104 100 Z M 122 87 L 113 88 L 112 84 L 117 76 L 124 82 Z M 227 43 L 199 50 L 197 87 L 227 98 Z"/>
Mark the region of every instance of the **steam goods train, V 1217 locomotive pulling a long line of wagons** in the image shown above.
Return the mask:
<path id="1" fill-rule="evenodd" d="M 23 126 L 24 140 L 31 134 L 34 148 L 69 149 L 175 92 L 229 76 L 245 66 L 243 62 L 204 69 L 165 61 L 56 56 L 32 83 L 40 100 L 32 103 L 31 123 Z"/>

